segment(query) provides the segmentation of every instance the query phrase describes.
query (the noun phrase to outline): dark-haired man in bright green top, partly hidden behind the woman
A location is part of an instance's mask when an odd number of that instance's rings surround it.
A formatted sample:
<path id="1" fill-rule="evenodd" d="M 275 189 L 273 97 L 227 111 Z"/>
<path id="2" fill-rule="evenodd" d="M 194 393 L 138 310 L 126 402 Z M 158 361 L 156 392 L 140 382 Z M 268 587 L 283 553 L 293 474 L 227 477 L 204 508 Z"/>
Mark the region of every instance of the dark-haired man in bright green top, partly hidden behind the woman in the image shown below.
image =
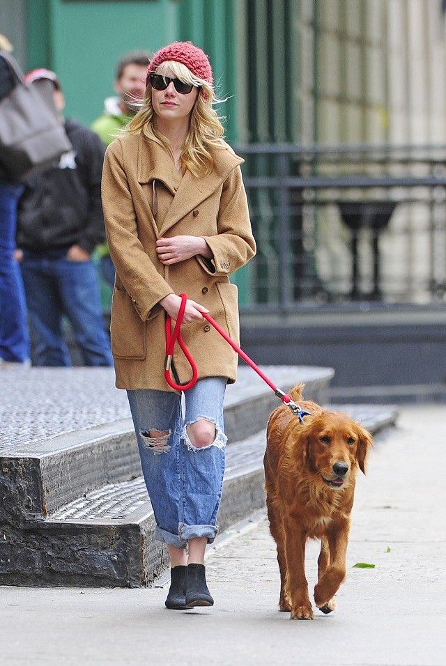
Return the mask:
<path id="1" fill-rule="evenodd" d="M 96 132 L 107 146 L 138 110 L 138 104 L 146 90 L 150 59 L 151 54 L 146 51 L 133 51 L 122 56 L 116 63 L 114 89 L 117 96 L 105 100 L 103 114 L 91 124 L 93 132 Z M 98 247 L 98 256 L 102 278 L 113 287 L 114 265 L 107 243 Z"/>

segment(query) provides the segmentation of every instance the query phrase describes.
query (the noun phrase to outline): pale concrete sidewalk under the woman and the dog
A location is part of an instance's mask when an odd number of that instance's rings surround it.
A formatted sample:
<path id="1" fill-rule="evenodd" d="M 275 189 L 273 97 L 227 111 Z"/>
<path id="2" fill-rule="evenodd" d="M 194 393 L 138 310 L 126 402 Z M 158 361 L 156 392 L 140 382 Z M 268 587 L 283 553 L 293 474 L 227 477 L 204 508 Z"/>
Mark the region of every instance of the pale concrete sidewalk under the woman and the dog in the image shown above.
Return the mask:
<path id="1" fill-rule="evenodd" d="M 164 607 L 151 589 L 0 588 L 5 665 L 446 664 L 444 405 L 401 407 L 358 475 L 348 578 L 314 621 L 277 611 L 275 545 L 263 512 L 208 551 L 212 609 Z M 316 577 L 318 544 L 308 548 Z M 356 562 L 375 568 L 353 568 Z"/>

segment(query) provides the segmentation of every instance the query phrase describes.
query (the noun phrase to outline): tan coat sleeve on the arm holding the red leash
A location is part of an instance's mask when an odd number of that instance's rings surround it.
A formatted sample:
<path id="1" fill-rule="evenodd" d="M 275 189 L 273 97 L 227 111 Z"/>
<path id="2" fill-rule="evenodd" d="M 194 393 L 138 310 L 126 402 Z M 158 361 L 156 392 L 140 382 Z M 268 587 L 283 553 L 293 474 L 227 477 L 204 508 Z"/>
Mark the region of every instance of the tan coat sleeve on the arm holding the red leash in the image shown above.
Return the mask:
<path id="1" fill-rule="evenodd" d="M 125 172 L 121 141 L 115 139 L 105 153 L 102 171 L 102 208 L 110 256 L 134 308 L 145 321 L 153 308 L 174 293 L 160 275 L 138 238 L 137 217 Z"/>

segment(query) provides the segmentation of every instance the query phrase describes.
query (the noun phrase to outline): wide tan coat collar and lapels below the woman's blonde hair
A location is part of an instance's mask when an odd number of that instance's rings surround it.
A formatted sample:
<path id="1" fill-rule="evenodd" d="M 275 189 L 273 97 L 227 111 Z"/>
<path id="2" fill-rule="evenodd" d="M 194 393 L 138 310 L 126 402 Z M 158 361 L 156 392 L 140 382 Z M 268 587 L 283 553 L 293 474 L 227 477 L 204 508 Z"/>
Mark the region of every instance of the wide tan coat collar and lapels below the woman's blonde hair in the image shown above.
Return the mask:
<path id="1" fill-rule="evenodd" d="M 233 152 L 228 144 L 222 148 L 212 147 L 210 153 L 214 158 L 214 169 L 206 178 L 195 178 L 190 171 L 186 171 L 183 178 L 180 177 L 174 161 L 162 146 L 150 141 L 141 134 L 138 146 L 137 178 L 139 183 L 151 183 L 153 180 L 161 180 L 169 189 L 174 200 L 169 212 L 164 219 L 160 235 L 166 233 L 167 229 L 185 217 L 191 210 L 196 208 L 202 201 L 210 196 L 224 183 L 229 173 L 243 163 L 243 159 Z"/>

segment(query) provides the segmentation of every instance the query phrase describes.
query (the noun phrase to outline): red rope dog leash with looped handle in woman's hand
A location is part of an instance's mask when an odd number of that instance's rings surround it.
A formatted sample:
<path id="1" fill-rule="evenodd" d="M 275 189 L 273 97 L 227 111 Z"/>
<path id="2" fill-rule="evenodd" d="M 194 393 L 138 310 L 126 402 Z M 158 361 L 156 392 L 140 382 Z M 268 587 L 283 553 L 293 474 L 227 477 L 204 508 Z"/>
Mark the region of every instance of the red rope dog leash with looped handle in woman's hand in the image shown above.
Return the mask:
<path id="1" fill-rule="evenodd" d="M 183 338 L 181 337 L 181 332 L 180 332 L 180 327 L 181 327 L 181 322 L 183 321 L 183 316 L 184 316 L 184 311 L 186 307 L 186 300 L 187 300 L 187 295 L 186 294 L 180 294 L 181 297 L 181 304 L 180 304 L 180 309 L 178 310 L 178 318 L 176 320 L 174 330 L 171 331 L 171 317 L 168 315 L 166 318 L 166 358 L 164 361 L 164 378 L 166 379 L 167 383 L 169 384 L 170 387 L 173 389 L 176 389 L 176 391 L 187 391 L 187 389 L 192 388 L 194 386 L 195 382 L 197 382 L 198 379 L 198 370 L 197 370 L 197 364 L 194 362 L 194 359 L 192 358 L 192 355 L 190 354 L 189 350 L 185 346 L 185 343 L 183 341 Z M 302 410 L 302 408 L 299 407 L 299 405 L 296 405 L 296 403 L 291 400 L 290 396 L 284 393 L 281 389 L 277 388 L 277 386 L 266 376 L 263 371 L 259 368 L 259 366 L 256 366 L 254 361 L 249 358 L 247 354 L 241 349 L 230 337 L 229 335 L 222 329 L 222 327 L 217 324 L 215 319 L 213 319 L 210 314 L 207 312 L 203 312 L 203 317 L 208 320 L 208 322 L 213 325 L 215 330 L 220 333 L 220 335 L 226 340 L 227 343 L 231 345 L 231 347 L 236 350 L 238 355 L 243 358 L 243 360 L 252 367 L 254 371 L 263 379 L 264 382 L 268 384 L 268 386 L 275 392 L 276 396 L 282 400 L 282 403 L 289 407 L 293 414 L 298 417 L 299 421 L 303 423 L 303 417 L 306 414 L 310 414 L 311 412 L 306 412 L 305 410 Z M 178 344 L 183 351 L 183 354 L 185 355 L 187 362 L 190 364 L 190 367 L 192 369 L 192 378 L 190 379 L 189 382 L 186 382 L 185 384 L 179 384 L 175 382 L 170 375 L 171 371 L 171 364 L 172 364 L 172 356 L 174 355 L 174 346 L 176 341 L 178 341 Z"/>

